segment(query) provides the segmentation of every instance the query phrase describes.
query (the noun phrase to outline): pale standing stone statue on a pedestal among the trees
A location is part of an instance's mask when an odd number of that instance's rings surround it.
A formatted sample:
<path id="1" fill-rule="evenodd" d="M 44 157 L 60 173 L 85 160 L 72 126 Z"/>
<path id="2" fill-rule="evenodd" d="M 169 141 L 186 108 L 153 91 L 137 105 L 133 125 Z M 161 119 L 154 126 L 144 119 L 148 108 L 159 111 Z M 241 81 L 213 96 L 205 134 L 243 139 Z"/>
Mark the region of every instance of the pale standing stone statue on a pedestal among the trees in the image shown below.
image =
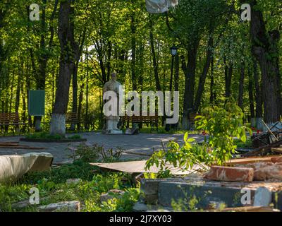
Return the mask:
<path id="1" fill-rule="evenodd" d="M 116 116 L 111 115 L 109 117 L 106 117 L 106 124 L 104 125 L 103 133 L 107 133 L 107 134 L 121 134 L 121 133 L 123 133 L 123 131 L 118 129 L 118 121 L 119 121 L 118 96 L 119 96 L 119 87 L 120 86 L 121 86 L 121 83 L 118 83 L 118 81 L 116 81 L 116 73 L 115 72 L 111 74 L 111 80 L 106 82 L 105 85 L 104 85 L 103 96 L 104 96 L 104 93 L 106 93 L 107 91 L 113 91 L 117 95 L 117 103 L 116 103 L 117 115 Z"/>

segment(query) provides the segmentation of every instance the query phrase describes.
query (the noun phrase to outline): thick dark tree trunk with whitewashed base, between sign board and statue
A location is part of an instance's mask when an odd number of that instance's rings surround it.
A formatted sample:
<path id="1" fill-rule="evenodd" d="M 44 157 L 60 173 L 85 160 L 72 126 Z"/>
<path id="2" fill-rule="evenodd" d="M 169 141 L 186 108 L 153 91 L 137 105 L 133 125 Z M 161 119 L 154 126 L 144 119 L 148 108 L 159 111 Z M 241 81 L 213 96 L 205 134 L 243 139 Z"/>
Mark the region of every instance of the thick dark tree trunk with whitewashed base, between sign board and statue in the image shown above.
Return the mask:
<path id="1" fill-rule="evenodd" d="M 61 1 L 58 30 L 61 47 L 59 81 L 50 126 L 51 134 L 57 133 L 61 136 L 66 135 L 68 93 L 75 60 L 73 57 L 75 54 L 73 15 L 74 9 L 71 7 L 71 0 Z"/>

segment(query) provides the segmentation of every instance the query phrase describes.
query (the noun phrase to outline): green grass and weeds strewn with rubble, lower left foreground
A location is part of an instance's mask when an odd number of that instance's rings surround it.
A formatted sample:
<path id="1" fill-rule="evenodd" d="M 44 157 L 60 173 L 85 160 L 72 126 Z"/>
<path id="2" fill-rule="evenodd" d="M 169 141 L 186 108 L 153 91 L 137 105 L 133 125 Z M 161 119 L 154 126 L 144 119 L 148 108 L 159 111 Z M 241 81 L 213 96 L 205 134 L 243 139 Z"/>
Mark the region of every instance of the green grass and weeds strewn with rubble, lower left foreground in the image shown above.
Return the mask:
<path id="1" fill-rule="evenodd" d="M 80 178 L 79 184 L 67 184 L 67 179 Z M 33 172 L 14 184 L 0 185 L 0 209 L 2 211 L 38 211 L 37 206 L 12 208 L 12 203 L 30 198 L 32 187 L 39 189 L 40 206 L 61 201 L 80 201 L 82 211 L 130 211 L 139 198 L 139 189 L 130 182 L 128 174 L 102 172 L 86 162 L 75 161 L 47 172 Z M 122 198 L 101 203 L 100 195 L 110 189 L 125 191 Z"/>

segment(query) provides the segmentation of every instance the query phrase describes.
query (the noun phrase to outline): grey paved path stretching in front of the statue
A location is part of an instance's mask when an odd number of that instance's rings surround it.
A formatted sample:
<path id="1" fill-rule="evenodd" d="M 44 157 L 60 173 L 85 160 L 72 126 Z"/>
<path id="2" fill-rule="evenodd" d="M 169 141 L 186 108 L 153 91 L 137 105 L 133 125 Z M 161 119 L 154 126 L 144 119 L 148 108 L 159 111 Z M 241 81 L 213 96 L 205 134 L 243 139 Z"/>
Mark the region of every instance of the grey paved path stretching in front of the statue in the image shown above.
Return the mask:
<path id="1" fill-rule="evenodd" d="M 87 145 L 97 143 L 103 145 L 104 148 L 117 148 L 121 147 L 125 150 L 121 159 L 123 160 L 139 160 L 147 159 L 152 155 L 154 150 L 161 149 L 161 141 L 167 143 L 168 141 L 178 139 L 183 141 L 183 135 L 180 134 L 149 134 L 140 133 L 137 135 L 105 135 L 101 133 L 80 133 L 82 138 L 87 138 Z M 204 141 L 202 135 L 190 135 L 196 139 L 197 142 Z M 6 141 L 19 141 L 20 136 L 0 137 L 0 142 Z M 0 148 L 0 155 L 14 155 L 25 154 L 30 152 L 45 152 L 54 155 L 54 163 L 66 162 L 72 151 L 68 147 L 76 147 L 80 143 L 29 143 L 20 142 L 20 144 L 29 145 L 33 147 L 44 147 L 44 150 L 28 150 L 28 149 L 6 149 Z"/>

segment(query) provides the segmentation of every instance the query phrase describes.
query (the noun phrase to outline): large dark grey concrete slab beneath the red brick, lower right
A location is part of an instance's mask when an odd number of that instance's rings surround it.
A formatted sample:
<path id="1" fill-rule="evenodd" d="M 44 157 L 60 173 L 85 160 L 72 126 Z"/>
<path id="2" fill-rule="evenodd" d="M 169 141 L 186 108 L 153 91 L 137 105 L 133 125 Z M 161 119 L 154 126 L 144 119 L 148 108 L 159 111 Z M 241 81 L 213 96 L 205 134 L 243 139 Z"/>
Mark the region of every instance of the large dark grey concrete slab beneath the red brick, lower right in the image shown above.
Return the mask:
<path id="1" fill-rule="evenodd" d="M 261 186 L 271 191 L 271 203 L 282 210 L 281 182 L 216 182 L 202 177 L 183 179 L 182 182 L 160 182 L 158 204 L 170 207 L 173 200 L 176 203 L 192 200 L 196 208 L 203 209 L 210 208 L 213 203 L 225 203 L 228 208 L 250 206 L 254 203 L 255 191 Z M 250 191 L 250 204 L 241 201 L 245 191 Z"/>

